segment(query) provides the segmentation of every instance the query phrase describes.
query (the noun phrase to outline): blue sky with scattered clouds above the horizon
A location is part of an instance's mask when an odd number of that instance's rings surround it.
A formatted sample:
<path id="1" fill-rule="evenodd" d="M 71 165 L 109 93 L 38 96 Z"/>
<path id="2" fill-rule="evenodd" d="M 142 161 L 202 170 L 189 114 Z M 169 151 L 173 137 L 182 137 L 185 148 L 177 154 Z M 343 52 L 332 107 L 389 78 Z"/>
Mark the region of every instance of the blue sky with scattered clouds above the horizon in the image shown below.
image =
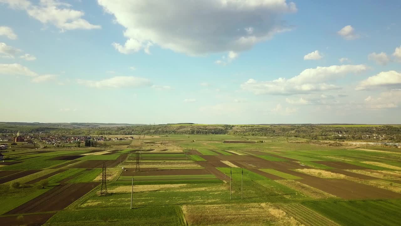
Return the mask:
<path id="1" fill-rule="evenodd" d="M 400 124 L 399 0 L 0 0 L 0 121 Z"/>

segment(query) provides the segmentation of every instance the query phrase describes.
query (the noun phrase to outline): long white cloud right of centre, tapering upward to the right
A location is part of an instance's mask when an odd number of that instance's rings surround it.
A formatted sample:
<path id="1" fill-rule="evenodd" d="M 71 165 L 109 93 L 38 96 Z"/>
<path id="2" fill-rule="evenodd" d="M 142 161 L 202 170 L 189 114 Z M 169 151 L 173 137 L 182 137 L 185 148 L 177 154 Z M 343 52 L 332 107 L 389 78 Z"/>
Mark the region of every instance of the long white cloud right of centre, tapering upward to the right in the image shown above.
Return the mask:
<path id="1" fill-rule="evenodd" d="M 335 90 L 341 87 L 334 84 L 327 84 L 326 82 L 337 80 L 346 74 L 356 74 L 365 70 L 367 70 L 367 66 L 363 64 L 309 68 L 290 79 L 278 78 L 276 80 L 258 82 L 251 78 L 247 82 L 241 84 L 241 88 L 251 91 L 256 95 L 293 95 Z"/>

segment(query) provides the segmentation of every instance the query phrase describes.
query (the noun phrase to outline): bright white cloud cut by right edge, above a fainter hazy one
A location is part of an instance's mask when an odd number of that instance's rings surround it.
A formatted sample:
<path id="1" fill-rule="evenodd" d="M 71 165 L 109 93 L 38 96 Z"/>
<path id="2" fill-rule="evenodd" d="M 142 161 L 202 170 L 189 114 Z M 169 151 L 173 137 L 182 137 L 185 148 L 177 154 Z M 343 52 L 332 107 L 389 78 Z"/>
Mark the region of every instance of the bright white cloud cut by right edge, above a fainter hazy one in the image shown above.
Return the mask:
<path id="1" fill-rule="evenodd" d="M 360 82 L 356 90 L 366 90 L 378 86 L 400 86 L 401 73 L 396 71 L 380 72 L 375 76 L 371 76 Z"/>

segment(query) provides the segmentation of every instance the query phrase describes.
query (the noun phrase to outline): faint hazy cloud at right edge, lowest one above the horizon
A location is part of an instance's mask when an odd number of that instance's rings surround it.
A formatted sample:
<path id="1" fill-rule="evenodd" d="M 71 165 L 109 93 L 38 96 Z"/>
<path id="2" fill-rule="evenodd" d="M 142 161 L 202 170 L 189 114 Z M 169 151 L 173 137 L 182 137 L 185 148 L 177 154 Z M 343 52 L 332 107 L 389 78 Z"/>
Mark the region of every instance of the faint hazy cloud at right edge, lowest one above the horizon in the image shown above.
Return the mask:
<path id="1" fill-rule="evenodd" d="M 380 93 L 379 97 L 367 97 L 365 107 L 367 109 L 388 109 L 396 108 L 401 102 L 401 89 L 393 89 Z"/>

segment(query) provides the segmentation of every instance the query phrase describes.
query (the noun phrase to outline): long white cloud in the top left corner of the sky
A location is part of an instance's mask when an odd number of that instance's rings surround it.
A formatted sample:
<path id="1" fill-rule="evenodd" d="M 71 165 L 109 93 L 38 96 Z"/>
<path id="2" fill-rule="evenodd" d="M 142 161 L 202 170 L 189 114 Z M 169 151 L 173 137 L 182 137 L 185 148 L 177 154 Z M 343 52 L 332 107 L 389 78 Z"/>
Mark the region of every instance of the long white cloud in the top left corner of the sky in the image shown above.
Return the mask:
<path id="1" fill-rule="evenodd" d="M 25 10 L 32 18 L 43 24 L 51 23 L 61 31 L 101 28 L 99 25 L 92 25 L 84 20 L 83 11 L 73 10 L 70 4 L 57 0 L 40 0 L 38 4 L 27 0 L 0 0 L 0 3 L 6 3 L 13 9 Z"/>

